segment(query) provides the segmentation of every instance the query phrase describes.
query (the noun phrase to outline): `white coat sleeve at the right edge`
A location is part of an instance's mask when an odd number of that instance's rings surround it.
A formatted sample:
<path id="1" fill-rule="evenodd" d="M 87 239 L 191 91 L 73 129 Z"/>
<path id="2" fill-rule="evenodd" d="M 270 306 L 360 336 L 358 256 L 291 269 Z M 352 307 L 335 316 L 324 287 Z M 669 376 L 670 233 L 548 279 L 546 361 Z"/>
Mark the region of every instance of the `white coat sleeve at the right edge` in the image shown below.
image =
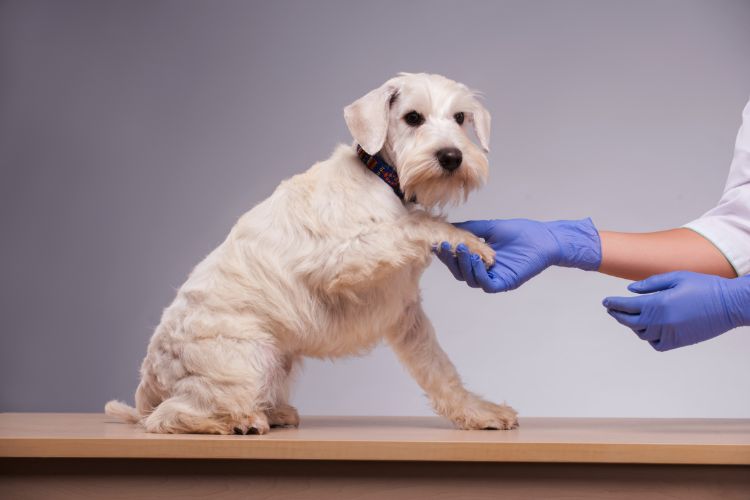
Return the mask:
<path id="1" fill-rule="evenodd" d="M 750 273 L 750 102 L 742 112 L 742 126 L 719 204 L 684 227 L 716 245 L 738 276 Z"/>

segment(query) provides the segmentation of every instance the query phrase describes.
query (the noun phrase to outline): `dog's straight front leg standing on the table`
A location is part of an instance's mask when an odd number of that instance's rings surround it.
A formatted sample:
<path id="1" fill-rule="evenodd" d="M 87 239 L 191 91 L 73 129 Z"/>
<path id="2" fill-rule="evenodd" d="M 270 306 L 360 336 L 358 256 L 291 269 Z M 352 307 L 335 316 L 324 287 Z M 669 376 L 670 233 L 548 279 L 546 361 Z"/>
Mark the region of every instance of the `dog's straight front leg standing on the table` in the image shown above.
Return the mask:
<path id="1" fill-rule="evenodd" d="M 485 401 L 464 388 L 421 306 L 412 306 L 407 319 L 404 324 L 408 326 L 392 332 L 388 340 L 438 414 L 461 429 L 512 429 L 518 425 L 511 407 Z"/>

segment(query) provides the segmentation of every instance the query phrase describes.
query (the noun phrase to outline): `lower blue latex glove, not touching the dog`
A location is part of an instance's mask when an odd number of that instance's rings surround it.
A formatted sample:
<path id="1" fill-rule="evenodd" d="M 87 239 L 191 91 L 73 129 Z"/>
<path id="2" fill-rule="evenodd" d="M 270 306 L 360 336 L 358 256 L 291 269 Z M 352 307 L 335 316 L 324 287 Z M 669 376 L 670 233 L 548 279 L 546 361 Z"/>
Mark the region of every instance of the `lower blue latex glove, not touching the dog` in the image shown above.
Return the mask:
<path id="1" fill-rule="evenodd" d="M 647 295 L 607 297 L 604 307 L 657 351 L 703 342 L 750 324 L 750 277 L 677 271 L 637 281 L 628 289 Z"/>

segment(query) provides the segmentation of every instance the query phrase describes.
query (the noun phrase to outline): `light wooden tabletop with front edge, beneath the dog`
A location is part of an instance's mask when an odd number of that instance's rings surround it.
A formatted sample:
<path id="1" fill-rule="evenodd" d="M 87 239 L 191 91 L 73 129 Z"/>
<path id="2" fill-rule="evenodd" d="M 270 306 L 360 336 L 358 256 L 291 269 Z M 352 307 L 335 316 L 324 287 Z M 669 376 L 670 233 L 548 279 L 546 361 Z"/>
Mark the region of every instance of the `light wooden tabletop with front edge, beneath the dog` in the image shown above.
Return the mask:
<path id="1" fill-rule="evenodd" d="M 2 413 L 0 457 L 750 465 L 748 419 L 524 418 L 460 431 L 433 417 L 303 417 L 265 436 L 148 434 L 102 414 Z"/>

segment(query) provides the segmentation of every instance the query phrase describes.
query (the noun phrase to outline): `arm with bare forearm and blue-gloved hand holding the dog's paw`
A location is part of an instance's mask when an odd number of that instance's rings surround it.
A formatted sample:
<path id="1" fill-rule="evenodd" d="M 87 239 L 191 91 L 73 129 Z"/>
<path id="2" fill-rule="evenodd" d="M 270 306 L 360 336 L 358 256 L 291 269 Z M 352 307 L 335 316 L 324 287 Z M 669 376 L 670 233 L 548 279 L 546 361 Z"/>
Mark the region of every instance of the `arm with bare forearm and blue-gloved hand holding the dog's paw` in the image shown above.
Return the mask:
<path id="1" fill-rule="evenodd" d="M 529 219 L 468 221 L 458 227 L 484 238 L 495 250 L 495 264 L 460 246 L 437 249 L 453 276 L 485 292 L 504 292 L 556 265 L 643 279 L 675 270 L 735 277 L 724 254 L 700 234 L 685 228 L 654 233 L 597 231 L 590 219 L 540 222 Z"/>

